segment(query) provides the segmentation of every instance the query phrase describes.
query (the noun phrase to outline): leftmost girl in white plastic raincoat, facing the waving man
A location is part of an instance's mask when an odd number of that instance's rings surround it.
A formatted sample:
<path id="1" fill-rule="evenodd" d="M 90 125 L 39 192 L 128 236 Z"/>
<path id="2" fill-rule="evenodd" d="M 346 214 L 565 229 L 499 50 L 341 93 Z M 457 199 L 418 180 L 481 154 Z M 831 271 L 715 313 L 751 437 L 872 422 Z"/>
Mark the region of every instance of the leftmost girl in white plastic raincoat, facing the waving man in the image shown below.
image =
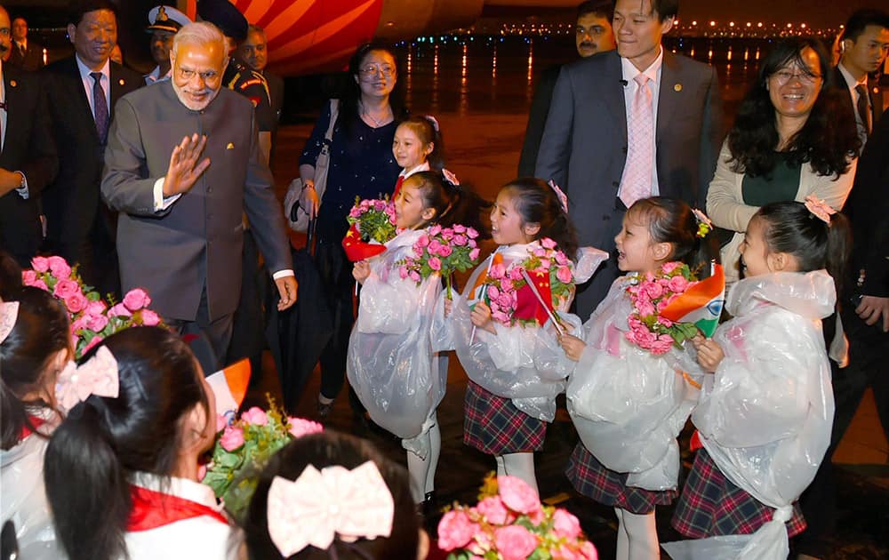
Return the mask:
<path id="1" fill-rule="evenodd" d="M 399 274 L 400 261 L 431 228 L 480 228 L 480 199 L 438 172 L 404 180 L 395 201 L 396 227 L 386 252 L 356 262 L 362 284 L 358 318 L 348 341 L 346 374 L 371 419 L 402 439 L 411 491 L 418 504 L 434 500 L 441 435 L 436 407 L 445 396 L 447 370 L 432 348 L 430 327 L 442 279 L 418 285 Z"/>

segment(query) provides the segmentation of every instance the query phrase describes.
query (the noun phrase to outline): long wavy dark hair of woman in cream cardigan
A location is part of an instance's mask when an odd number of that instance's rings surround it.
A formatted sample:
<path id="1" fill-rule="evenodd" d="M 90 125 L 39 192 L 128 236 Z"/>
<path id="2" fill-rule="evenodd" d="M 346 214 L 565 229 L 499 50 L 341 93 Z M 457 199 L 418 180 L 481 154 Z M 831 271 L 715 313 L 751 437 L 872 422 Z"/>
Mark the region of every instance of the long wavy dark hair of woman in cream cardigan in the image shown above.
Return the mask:
<path id="1" fill-rule="evenodd" d="M 757 83 L 741 101 L 738 116 L 728 135 L 732 153 L 732 171 L 750 177 L 769 177 L 781 155 L 775 108 L 769 97 L 768 81 L 775 72 L 796 64 L 807 68 L 803 51 L 818 55 L 817 72 L 822 78 L 821 91 L 803 127 L 788 143 L 784 155 L 790 164 L 809 164 L 819 175 L 842 175 L 849 170 L 852 157 L 861 148 L 855 116 L 848 102 L 848 92 L 829 87 L 833 81 L 830 59 L 818 39 L 789 37 L 775 43 L 759 68 Z"/>

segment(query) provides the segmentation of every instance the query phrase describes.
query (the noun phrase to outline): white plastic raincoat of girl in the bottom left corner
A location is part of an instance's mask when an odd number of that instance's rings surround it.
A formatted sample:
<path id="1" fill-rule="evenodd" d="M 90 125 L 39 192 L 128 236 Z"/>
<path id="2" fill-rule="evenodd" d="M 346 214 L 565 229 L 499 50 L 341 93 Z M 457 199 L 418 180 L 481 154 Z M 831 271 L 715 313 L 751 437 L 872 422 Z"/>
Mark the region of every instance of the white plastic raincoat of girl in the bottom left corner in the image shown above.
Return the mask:
<path id="1" fill-rule="evenodd" d="M 48 433 L 47 424 L 40 431 Z M 0 524 L 12 519 L 21 558 L 64 558 L 56 541 L 44 488 L 44 453 L 49 440 L 36 434 L 0 451 Z"/>

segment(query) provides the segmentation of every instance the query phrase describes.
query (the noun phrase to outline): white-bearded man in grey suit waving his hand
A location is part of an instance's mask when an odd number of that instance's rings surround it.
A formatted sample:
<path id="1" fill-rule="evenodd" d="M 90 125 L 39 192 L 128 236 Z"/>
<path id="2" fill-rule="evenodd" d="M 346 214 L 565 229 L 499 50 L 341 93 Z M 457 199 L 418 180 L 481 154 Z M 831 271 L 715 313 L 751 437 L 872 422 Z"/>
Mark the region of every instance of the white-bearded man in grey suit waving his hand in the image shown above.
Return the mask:
<path id="1" fill-rule="evenodd" d="M 252 104 L 222 88 L 224 36 L 211 23 L 188 24 L 170 59 L 171 80 L 117 103 L 102 196 L 121 212 L 124 291 L 146 289 L 167 324 L 204 332 L 221 360 L 241 290 L 243 212 L 274 271 L 279 309 L 296 301 L 297 284 Z"/>

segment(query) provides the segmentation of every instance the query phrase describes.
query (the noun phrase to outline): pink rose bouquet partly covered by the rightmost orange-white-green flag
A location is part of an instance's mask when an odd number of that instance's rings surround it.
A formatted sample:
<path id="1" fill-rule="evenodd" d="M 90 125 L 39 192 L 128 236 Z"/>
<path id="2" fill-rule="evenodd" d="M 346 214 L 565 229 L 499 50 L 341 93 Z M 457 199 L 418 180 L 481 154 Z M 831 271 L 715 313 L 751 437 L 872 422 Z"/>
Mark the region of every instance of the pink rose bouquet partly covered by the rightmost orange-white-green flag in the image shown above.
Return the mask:
<path id="1" fill-rule="evenodd" d="M 690 287 L 698 279 L 681 262 L 664 263 L 655 273 L 633 276 L 633 284 L 627 288 L 633 302 L 633 313 L 629 316 L 629 331 L 624 333 L 627 340 L 639 348 L 645 348 L 660 356 L 698 333 L 693 323 L 675 323 L 661 311 Z"/>

